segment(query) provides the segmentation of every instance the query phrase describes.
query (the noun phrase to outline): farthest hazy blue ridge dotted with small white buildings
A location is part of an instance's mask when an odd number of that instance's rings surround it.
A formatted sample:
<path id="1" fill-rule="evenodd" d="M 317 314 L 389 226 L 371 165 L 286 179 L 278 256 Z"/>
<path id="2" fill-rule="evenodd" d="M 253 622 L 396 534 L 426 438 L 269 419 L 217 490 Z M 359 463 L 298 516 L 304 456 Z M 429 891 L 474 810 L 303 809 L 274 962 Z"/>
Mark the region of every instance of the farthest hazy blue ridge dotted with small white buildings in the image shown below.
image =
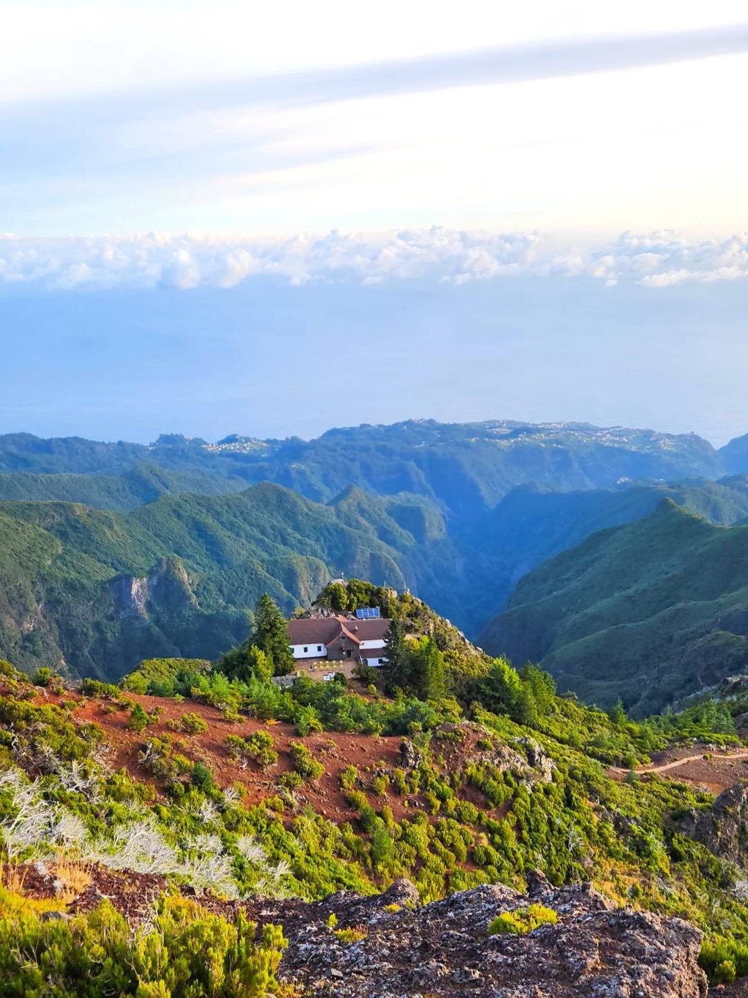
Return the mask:
<path id="1" fill-rule="evenodd" d="M 414 493 L 455 515 L 490 509 L 517 485 L 533 481 L 587 489 L 621 479 L 722 472 L 717 451 L 694 434 L 586 423 L 409 420 L 328 430 L 310 441 L 232 436 L 207 444 L 170 434 L 149 447 L 0 436 L 0 471 L 121 475 L 144 461 L 248 483 L 274 481 L 317 501 L 329 501 L 348 485 L 384 495 Z"/>

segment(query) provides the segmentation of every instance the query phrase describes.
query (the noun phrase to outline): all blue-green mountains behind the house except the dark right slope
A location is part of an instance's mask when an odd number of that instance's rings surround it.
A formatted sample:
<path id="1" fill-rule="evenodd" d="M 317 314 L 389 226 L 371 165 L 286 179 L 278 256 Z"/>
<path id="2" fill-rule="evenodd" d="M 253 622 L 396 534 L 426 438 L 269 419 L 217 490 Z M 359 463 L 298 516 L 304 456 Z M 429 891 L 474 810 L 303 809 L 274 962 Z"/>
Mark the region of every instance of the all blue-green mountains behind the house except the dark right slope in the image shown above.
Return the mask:
<path id="1" fill-rule="evenodd" d="M 0 437 L 0 655 L 108 677 L 209 658 L 259 592 L 290 610 L 341 572 L 408 586 L 475 637 L 526 573 L 663 497 L 744 519 L 746 475 L 659 480 L 720 463 L 694 436 L 507 421 L 309 442 Z"/>

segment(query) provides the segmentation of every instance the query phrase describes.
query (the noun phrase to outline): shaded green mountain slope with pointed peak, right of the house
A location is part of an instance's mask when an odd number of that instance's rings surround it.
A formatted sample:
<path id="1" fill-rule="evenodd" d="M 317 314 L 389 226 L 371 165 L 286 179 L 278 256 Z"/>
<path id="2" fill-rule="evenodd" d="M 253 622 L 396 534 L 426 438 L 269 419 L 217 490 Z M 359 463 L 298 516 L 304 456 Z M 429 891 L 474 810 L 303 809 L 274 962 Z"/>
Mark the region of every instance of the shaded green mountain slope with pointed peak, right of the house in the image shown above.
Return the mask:
<path id="1" fill-rule="evenodd" d="M 748 528 L 664 499 L 527 575 L 479 640 L 585 699 L 659 710 L 748 668 Z"/>

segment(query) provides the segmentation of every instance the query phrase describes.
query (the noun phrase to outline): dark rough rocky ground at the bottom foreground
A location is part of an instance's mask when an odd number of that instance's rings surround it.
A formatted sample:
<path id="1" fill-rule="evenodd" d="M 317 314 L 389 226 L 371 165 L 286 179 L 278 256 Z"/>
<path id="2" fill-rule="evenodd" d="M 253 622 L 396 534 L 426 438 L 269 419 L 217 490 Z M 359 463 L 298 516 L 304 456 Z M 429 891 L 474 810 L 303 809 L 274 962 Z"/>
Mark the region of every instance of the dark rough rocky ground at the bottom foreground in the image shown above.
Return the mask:
<path id="1" fill-rule="evenodd" d="M 120 881 L 132 875 L 99 867 L 91 874 L 71 912 L 109 897 L 135 924 L 148 917 L 149 899 L 164 886 L 161 878 L 140 876 L 125 890 Z M 48 889 L 43 881 L 30 876 L 27 889 L 43 893 Z M 532 902 L 553 908 L 557 924 L 527 935 L 489 935 L 496 915 Z M 305 996 L 703 998 L 707 993 L 697 964 L 701 933 L 693 926 L 612 909 L 589 886 L 557 889 L 540 873 L 531 876 L 528 895 L 487 885 L 426 905 L 407 880 L 374 897 L 343 891 L 314 903 L 210 897 L 199 903 L 227 918 L 242 908 L 260 924 L 281 924 L 289 945 L 280 974 Z M 740 992 L 729 993 L 737 998 Z"/>

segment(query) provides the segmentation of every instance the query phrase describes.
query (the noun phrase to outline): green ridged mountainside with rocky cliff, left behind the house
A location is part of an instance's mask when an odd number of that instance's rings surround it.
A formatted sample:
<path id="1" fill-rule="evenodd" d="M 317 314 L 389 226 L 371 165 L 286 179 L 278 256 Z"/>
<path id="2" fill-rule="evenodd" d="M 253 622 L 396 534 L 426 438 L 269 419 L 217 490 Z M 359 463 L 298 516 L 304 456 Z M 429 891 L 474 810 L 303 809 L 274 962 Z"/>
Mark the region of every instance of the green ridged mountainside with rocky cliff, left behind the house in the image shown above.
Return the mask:
<path id="1" fill-rule="evenodd" d="M 341 571 L 412 585 L 412 536 L 375 500 L 365 519 L 340 507 L 269 484 L 125 514 L 0 504 L 0 658 L 118 677 L 144 657 L 215 657 L 262 592 L 291 610 Z"/>

